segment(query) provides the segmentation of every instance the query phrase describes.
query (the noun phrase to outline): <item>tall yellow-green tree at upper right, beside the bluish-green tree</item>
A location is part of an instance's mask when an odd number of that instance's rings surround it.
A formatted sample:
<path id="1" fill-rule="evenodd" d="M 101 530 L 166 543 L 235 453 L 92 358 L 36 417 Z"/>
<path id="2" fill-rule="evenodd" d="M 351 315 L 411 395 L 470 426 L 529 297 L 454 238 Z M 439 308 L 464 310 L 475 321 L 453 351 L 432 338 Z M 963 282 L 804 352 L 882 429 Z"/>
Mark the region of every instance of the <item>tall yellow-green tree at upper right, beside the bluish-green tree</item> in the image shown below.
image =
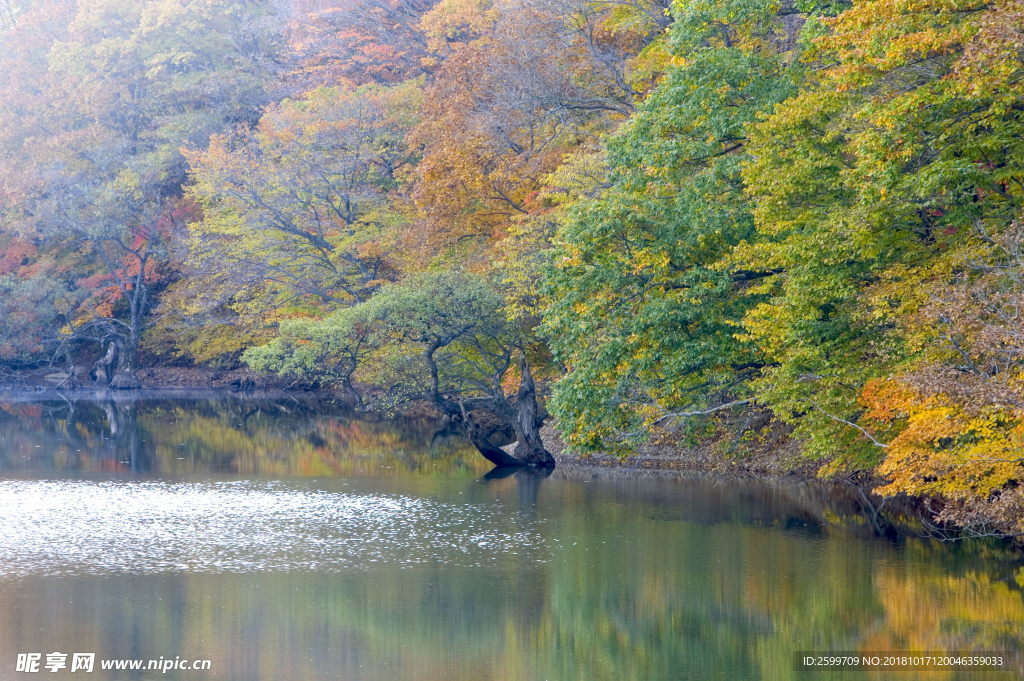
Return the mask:
<path id="1" fill-rule="evenodd" d="M 879 461 L 883 442 L 851 426 L 863 386 L 942 345 L 921 311 L 1020 215 L 1019 12 L 857 4 L 820 27 L 800 94 L 752 130 L 758 233 L 733 260 L 779 271 L 743 322 L 769 365 L 754 389 L 811 454 Z"/>

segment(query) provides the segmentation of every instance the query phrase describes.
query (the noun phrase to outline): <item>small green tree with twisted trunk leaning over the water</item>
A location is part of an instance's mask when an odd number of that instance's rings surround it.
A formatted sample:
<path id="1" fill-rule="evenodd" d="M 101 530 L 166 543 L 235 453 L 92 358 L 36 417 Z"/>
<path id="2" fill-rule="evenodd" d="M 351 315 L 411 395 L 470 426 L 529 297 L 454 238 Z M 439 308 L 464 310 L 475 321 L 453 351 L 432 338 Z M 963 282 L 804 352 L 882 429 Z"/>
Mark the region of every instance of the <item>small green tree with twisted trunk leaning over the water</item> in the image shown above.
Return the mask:
<path id="1" fill-rule="evenodd" d="M 426 400 L 496 465 L 548 467 L 554 459 L 540 436 L 546 414 L 529 349 L 492 283 L 440 271 L 384 286 L 322 322 L 283 325 L 279 339 L 243 356 L 261 371 L 333 378 L 346 390 L 361 361 L 364 380 L 390 403 Z M 501 449 L 503 436 L 516 441 L 512 455 Z"/>

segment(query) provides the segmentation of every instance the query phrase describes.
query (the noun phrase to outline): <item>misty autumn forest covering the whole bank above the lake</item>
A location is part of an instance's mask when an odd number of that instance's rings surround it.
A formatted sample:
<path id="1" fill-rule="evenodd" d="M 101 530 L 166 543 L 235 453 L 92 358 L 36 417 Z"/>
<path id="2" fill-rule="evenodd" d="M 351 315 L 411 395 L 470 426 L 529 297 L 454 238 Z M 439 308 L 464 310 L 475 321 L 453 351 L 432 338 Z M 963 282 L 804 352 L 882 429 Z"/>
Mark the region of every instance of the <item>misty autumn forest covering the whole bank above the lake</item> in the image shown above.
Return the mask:
<path id="1" fill-rule="evenodd" d="M 1024 0 L 0 0 L 0 373 L 156 365 L 1022 535 Z"/>

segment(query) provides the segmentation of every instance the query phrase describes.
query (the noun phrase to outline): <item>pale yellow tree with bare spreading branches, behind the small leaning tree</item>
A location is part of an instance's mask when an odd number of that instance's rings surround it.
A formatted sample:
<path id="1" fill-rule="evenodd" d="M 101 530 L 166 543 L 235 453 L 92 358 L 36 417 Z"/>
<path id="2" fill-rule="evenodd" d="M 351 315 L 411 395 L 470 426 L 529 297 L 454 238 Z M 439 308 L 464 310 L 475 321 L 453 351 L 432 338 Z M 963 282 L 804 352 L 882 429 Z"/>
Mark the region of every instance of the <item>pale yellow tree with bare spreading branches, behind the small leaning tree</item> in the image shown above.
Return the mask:
<path id="1" fill-rule="evenodd" d="M 395 195 L 415 161 L 404 134 L 419 98 L 415 81 L 321 88 L 186 152 L 203 217 L 168 304 L 209 328 L 165 331 L 184 333 L 194 356 L 216 356 L 244 346 L 240 327 L 351 305 L 393 279 L 386 240 L 403 219 Z"/>

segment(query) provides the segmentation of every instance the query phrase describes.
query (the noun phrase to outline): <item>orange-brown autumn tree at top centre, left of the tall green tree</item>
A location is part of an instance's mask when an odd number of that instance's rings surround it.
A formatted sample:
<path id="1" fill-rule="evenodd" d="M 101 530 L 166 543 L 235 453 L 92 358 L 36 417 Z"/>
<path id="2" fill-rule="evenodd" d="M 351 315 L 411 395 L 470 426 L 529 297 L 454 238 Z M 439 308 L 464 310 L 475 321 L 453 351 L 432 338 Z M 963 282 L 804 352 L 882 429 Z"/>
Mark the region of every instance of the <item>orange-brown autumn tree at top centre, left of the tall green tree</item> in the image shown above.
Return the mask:
<path id="1" fill-rule="evenodd" d="M 442 0 L 424 16 L 439 66 L 411 139 L 422 148 L 413 199 L 427 257 L 489 258 L 517 220 L 545 210 L 536 201 L 545 175 L 631 111 L 628 51 L 648 38 L 628 40 L 639 29 L 621 17 L 614 30 L 613 11 Z"/>

